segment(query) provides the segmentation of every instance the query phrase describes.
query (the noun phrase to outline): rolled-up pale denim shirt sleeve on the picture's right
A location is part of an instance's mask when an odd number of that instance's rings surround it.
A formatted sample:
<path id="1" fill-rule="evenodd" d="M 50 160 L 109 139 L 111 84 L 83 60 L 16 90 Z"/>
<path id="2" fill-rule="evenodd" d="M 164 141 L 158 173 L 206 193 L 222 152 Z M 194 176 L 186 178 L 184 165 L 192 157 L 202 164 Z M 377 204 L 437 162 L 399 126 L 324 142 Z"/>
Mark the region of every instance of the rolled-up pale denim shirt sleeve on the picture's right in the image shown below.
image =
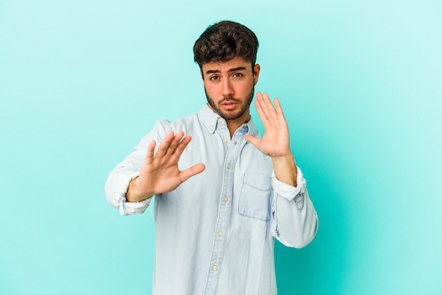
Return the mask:
<path id="1" fill-rule="evenodd" d="M 272 173 L 272 235 L 285 246 L 302 248 L 318 230 L 318 216 L 309 198 L 306 180 L 297 167 L 297 187 L 279 181 Z"/>

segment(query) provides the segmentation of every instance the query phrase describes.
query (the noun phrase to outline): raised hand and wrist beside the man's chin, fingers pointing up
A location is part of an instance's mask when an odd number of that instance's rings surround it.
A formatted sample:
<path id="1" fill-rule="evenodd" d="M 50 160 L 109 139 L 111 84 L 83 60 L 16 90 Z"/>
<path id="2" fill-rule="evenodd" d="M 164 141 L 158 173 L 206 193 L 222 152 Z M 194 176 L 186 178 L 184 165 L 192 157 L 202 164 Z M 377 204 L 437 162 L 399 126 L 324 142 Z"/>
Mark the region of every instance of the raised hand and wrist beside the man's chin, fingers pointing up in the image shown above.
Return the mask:
<path id="1" fill-rule="evenodd" d="M 275 98 L 274 101 L 275 107 L 267 93 L 256 93 L 256 111 L 263 122 L 265 133 L 261 140 L 255 136 L 246 136 L 245 139 L 264 155 L 272 157 L 277 179 L 297 186 L 297 168 L 290 150 L 289 128 L 279 100 Z"/>

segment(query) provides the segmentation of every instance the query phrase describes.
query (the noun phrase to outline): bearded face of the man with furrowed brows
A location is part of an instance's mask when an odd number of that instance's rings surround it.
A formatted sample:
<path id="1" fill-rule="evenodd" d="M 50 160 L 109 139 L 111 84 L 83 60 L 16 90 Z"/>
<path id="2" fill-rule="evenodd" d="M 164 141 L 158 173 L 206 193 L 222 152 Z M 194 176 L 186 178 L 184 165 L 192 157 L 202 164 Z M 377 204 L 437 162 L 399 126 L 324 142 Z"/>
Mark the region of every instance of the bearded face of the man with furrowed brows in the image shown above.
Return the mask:
<path id="1" fill-rule="evenodd" d="M 241 57 L 203 64 L 201 75 L 210 109 L 226 121 L 249 121 L 249 107 L 259 71 L 260 66 L 256 64 L 253 73 L 251 63 Z"/>

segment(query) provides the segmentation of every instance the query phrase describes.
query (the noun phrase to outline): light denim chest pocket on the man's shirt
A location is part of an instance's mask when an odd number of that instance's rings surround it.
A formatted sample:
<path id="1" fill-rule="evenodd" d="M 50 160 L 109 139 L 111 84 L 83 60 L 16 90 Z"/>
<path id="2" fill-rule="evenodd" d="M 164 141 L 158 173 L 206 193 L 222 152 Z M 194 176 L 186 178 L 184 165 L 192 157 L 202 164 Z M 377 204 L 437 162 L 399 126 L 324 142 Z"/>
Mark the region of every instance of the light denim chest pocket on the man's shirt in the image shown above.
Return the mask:
<path id="1" fill-rule="evenodd" d="M 246 217 L 270 219 L 271 176 L 246 173 L 239 195 L 238 212 Z"/>

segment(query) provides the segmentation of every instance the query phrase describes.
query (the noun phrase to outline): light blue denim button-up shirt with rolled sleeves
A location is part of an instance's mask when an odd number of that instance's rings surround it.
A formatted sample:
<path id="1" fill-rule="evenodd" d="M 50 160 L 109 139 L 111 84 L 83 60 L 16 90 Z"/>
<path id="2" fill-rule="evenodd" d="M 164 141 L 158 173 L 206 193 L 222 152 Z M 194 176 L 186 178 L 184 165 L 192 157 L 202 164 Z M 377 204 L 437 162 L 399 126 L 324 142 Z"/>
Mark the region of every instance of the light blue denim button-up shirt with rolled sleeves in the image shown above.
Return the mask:
<path id="1" fill-rule="evenodd" d="M 318 218 L 297 168 L 297 187 L 278 181 L 270 157 L 244 136 L 261 138 L 253 121 L 230 138 L 225 119 L 204 105 L 174 122 L 158 121 L 106 182 L 108 202 L 121 215 L 142 213 L 150 199 L 126 202 L 151 140 L 168 131 L 192 140 L 179 169 L 205 170 L 170 193 L 155 195 L 153 294 L 277 294 L 273 238 L 301 248 L 316 234 Z"/>

